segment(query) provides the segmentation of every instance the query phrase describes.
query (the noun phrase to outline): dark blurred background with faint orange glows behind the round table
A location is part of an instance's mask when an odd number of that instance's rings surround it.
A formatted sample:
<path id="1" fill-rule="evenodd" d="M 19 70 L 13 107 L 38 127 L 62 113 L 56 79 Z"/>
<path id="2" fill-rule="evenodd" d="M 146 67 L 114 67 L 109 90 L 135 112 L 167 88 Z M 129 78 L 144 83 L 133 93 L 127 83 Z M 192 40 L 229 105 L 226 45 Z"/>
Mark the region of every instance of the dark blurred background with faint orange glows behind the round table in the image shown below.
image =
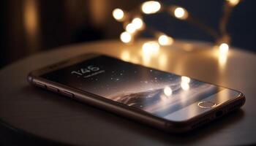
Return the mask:
<path id="1" fill-rule="evenodd" d="M 118 39 L 124 31 L 113 19 L 112 11 L 140 7 L 141 0 L 4 0 L 0 1 L 0 68 L 38 53 L 63 45 Z M 218 29 L 224 0 L 165 0 L 177 4 Z M 231 45 L 255 53 L 256 1 L 244 0 L 233 9 L 227 31 Z M 170 34 L 175 39 L 214 42 L 206 32 L 165 13 L 145 16 L 147 26 Z M 142 37 L 149 37 L 142 34 Z M 102 48 L 104 49 L 104 48 Z"/>

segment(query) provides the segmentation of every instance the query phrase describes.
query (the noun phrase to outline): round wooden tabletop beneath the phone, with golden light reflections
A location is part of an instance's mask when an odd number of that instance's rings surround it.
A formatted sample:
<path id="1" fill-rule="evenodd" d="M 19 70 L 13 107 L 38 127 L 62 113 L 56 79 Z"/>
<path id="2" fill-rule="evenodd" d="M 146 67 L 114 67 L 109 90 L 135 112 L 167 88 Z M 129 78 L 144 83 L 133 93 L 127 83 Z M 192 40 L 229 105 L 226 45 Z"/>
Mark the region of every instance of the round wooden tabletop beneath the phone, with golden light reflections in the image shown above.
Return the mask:
<path id="1" fill-rule="evenodd" d="M 0 120 L 19 134 L 76 145 L 245 145 L 256 144 L 256 55 L 230 48 L 218 55 L 203 42 L 176 41 L 145 55 L 143 40 L 115 40 L 61 47 L 24 58 L 0 70 Z M 35 88 L 26 81 L 34 69 L 83 53 L 104 53 L 241 91 L 246 104 L 189 134 L 167 134 L 133 120 Z M 157 54 L 157 55 L 156 55 Z"/>

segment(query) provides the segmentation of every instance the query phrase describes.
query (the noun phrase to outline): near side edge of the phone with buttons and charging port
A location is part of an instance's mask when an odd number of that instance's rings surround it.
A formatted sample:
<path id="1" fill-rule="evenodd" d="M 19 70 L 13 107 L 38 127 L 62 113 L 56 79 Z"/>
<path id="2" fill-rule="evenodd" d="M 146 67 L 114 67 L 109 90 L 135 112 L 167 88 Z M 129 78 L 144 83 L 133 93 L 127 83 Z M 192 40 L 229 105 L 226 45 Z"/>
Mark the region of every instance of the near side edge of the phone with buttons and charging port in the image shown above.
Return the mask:
<path id="1" fill-rule="evenodd" d="M 51 91 L 49 90 L 48 86 L 52 86 L 53 88 L 57 88 L 59 90 L 59 92 L 52 91 L 53 93 L 59 93 L 64 96 L 69 95 L 61 93 L 61 91 L 72 93 L 73 96 L 69 96 L 69 98 L 82 101 L 85 104 L 89 104 L 94 107 L 99 107 L 102 110 L 107 110 L 108 112 L 112 112 L 132 120 L 136 120 L 140 123 L 145 123 L 148 126 L 153 126 L 154 128 L 159 128 L 169 133 L 184 133 L 192 131 L 196 128 L 206 125 L 206 123 L 221 118 L 223 115 L 227 115 L 229 112 L 232 112 L 233 110 L 239 109 L 244 105 L 246 101 L 244 94 L 238 91 L 238 93 L 240 93 L 239 96 L 237 96 L 235 99 L 226 104 L 222 104 L 218 108 L 215 108 L 202 115 L 196 116 L 192 119 L 183 122 L 175 122 L 165 120 L 154 115 L 150 115 L 149 113 L 143 112 L 142 110 L 134 110 L 133 108 L 127 108 L 129 107 L 127 105 L 121 106 L 121 104 L 119 104 L 116 101 L 110 101 L 109 99 L 102 101 L 97 99 L 95 96 L 87 96 L 85 93 L 75 90 L 74 88 L 65 87 L 66 85 L 56 85 L 58 84 L 57 82 L 43 82 L 42 80 L 38 79 L 37 76 L 34 76 L 33 72 L 30 72 L 28 74 L 27 79 L 32 85 L 36 85 L 37 87 Z M 36 82 L 41 83 L 41 85 L 38 85 Z M 228 108 L 233 106 L 236 106 L 236 108 L 234 108 L 232 111 L 230 110 L 229 112 L 225 112 L 225 114 L 218 118 L 214 117 L 218 110 L 227 110 Z"/>

